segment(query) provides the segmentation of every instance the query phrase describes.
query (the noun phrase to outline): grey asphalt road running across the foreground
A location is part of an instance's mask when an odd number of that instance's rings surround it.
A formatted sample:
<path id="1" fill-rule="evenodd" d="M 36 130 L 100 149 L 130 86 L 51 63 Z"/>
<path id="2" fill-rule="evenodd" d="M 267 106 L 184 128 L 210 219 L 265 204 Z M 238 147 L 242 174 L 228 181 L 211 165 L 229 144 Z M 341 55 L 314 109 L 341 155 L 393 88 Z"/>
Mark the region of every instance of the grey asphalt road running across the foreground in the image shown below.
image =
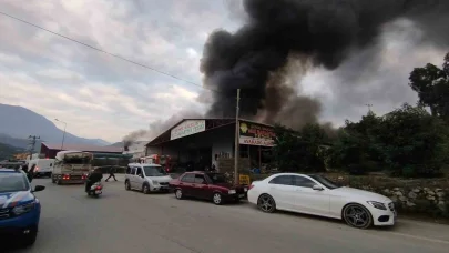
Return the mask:
<path id="1" fill-rule="evenodd" d="M 31 249 L 12 252 L 448 252 L 449 226 L 401 221 L 394 229 L 360 231 L 339 221 L 289 213 L 265 214 L 247 203 L 216 206 L 173 194 L 125 191 L 105 183 L 100 199 L 82 185 L 49 179 L 37 193 L 40 233 Z"/>

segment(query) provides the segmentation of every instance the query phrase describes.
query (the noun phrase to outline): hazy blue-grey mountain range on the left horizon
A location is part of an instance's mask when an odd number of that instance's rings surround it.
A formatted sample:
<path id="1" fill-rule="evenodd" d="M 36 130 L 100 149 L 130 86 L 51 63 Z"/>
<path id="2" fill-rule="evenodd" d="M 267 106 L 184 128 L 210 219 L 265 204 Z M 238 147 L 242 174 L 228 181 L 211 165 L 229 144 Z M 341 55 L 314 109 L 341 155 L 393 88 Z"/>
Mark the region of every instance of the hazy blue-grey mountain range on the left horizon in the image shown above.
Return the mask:
<path id="1" fill-rule="evenodd" d="M 27 149 L 30 135 L 40 136 L 35 144 L 35 149 L 39 149 L 41 142 L 60 143 L 63 131 L 45 117 L 27 108 L 0 103 L 0 143 Z M 101 139 L 81 138 L 69 132 L 65 133 L 64 142 L 85 145 L 111 144 Z"/>

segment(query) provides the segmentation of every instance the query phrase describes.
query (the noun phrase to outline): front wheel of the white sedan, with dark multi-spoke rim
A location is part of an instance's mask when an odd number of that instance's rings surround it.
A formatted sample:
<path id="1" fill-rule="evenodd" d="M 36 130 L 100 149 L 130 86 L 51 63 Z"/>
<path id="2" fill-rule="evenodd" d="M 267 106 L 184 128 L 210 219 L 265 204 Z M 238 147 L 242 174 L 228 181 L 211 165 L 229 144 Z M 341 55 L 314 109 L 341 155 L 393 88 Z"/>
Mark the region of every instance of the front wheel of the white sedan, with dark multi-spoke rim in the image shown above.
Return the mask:
<path id="1" fill-rule="evenodd" d="M 348 204 L 343 209 L 346 224 L 357 229 L 368 229 L 373 225 L 371 213 L 361 204 Z"/>

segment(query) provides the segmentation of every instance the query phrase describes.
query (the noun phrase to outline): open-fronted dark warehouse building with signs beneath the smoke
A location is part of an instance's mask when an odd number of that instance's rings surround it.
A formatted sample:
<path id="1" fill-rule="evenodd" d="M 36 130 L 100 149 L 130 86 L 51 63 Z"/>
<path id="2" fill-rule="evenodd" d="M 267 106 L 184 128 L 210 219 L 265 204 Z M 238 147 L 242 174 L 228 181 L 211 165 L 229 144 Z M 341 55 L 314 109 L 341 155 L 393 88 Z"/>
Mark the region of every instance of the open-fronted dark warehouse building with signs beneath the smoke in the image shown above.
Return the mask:
<path id="1" fill-rule="evenodd" d="M 145 155 L 169 155 L 186 170 L 234 168 L 235 119 L 183 119 L 146 144 Z M 275 144 L 273 125 L 238 121 L 239 169 L 263 168 Z"/>

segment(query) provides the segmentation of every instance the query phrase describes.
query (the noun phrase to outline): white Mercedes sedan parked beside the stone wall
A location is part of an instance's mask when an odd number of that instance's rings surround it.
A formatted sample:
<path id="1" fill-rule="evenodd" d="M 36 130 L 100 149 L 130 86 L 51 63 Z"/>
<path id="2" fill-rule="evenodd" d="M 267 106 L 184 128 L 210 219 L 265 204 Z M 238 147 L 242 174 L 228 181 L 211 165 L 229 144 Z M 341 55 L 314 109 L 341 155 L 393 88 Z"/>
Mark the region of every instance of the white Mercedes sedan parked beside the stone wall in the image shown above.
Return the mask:
<path id="1" fill-rule="evenodd" d="M 284 210 L 339 219 L 357 229 L 394 225 L 397 216 L 387 196 L 338 186 L 316 174 L 278 173 L 254 181 L 248 201 L 266 213 Z"/>

